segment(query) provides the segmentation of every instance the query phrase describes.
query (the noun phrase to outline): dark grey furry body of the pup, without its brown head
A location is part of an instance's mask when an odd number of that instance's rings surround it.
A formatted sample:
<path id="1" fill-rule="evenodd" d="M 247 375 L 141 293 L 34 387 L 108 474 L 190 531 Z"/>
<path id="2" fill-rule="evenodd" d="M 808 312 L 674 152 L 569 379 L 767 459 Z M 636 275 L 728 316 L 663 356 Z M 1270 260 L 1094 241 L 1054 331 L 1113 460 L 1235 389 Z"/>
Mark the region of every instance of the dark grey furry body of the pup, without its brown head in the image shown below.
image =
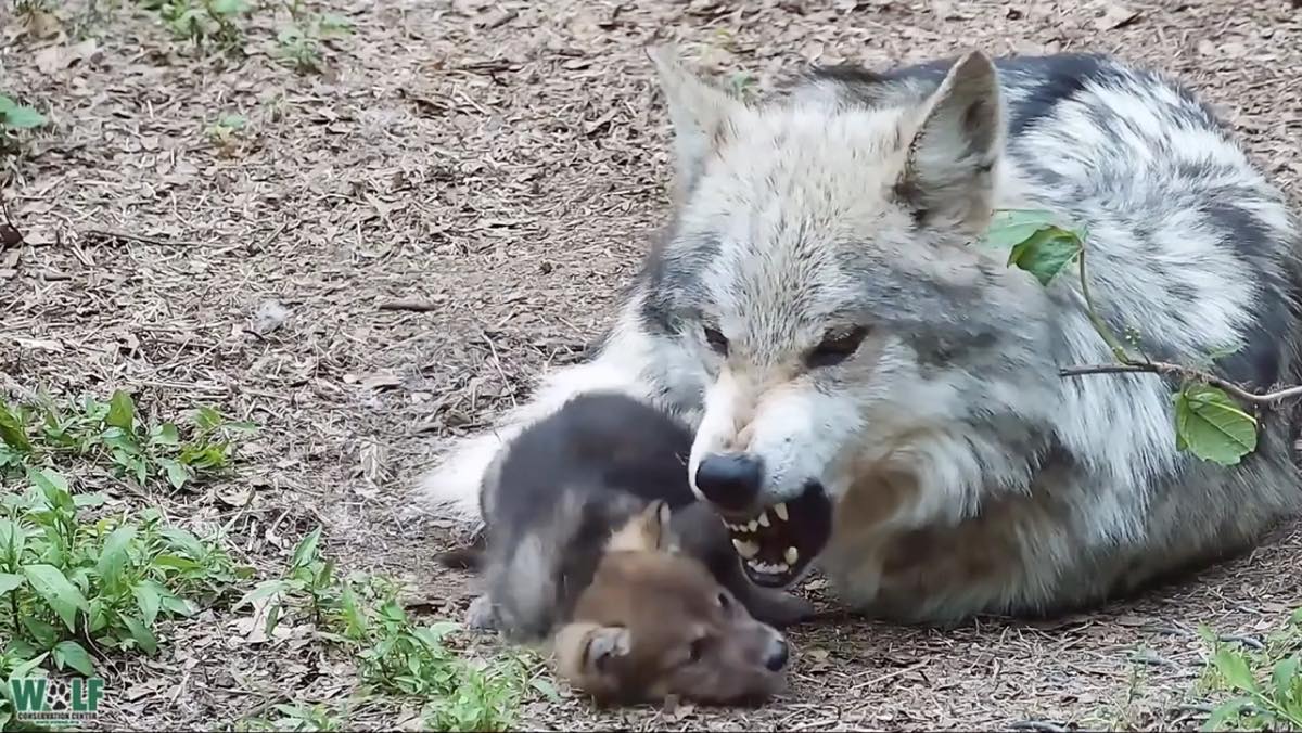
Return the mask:
<path id="1" fill-rule="evenodd" d="M 616 393 L 582 394 L 531 426 L 486 477 L 486 548 L 439 557 L 483 572 L 486 592 L 471 604 L 467 624 L 544 637 L 572 616 L 612 532 L 658 500 L 672 512 L 671 549 L 703 562 L 751 615 L 775 626 L 812 615 L 807 602 L 756 587 L 742 574 L 729 531 L 687 484 L 690 450 L 684 426 Z"/>

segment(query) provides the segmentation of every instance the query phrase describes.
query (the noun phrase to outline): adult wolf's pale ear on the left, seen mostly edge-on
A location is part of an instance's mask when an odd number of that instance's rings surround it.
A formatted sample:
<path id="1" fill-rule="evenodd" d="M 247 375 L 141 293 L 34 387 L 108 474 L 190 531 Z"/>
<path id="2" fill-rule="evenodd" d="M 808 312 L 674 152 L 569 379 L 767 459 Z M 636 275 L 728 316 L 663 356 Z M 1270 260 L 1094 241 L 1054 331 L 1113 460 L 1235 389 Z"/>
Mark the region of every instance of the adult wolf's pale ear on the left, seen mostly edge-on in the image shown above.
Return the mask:
<path id="1" fill-rule="evenodd" d="M 668 47 L 648 48 L 673 124 L 674 187 L 681 201 L 706 159 L 732 134 L 730 117 L 745 104 L 693 74 Z"/>

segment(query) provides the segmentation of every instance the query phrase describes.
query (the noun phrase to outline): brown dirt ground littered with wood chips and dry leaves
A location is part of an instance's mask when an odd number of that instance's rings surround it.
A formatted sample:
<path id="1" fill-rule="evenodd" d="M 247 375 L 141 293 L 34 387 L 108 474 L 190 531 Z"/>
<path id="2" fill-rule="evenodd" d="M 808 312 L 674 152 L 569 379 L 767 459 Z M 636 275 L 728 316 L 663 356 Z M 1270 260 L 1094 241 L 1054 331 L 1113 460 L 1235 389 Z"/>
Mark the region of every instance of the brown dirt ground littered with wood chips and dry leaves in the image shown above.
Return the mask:
<path id="1" fill-rule="evenodd" d="M 323 522 L 328 552 L 413 579 L 453 618 L 466 578 L 435 568 L 448 532 L 413 518 L 404 492 L 447 437 L 582 357 L 663 224 L 668 122 L 647 42 L 676 39 L 698 68 L 760 87 L 811 61 L 881 68 L 965 46 L 1117 52 L 1195 85 L 1302 194 L 1302 9 L 1289 0 L 312 7 L 355 26 L 324 74 L 276 62 L 270 18 L 229 59 L 102 3 L 95 51 L 59 56 L 39 51 L 81 36 L 17 38 L 5 4 L 0 90 L 53 124 L 3 191 L 27 241 L 0 251 L 0 376 L 250 417 L 263 432 L 240 482 L 148 500 L 229 525 L 268 566 Z M 247 126 L 221 146 L 208 128 L 229 113 Z M 431 310 L 381 307 L 396 299 Z M 1195 726 L 1198 626 L 1277 624 L 1302 599 L 1299 549 L 1302 527 L 1284 527 L 1251 557 L 1052 622 L 802 629 L 792 691 L 759 711 L 568 699 L 530 703 L 525 725 Z M 337 691 L 297 641 L 250 647 L 240 621 L 177 626 L 163 656 L 124 664 L 130 703 L 104 723 L 214 726 Z"/>

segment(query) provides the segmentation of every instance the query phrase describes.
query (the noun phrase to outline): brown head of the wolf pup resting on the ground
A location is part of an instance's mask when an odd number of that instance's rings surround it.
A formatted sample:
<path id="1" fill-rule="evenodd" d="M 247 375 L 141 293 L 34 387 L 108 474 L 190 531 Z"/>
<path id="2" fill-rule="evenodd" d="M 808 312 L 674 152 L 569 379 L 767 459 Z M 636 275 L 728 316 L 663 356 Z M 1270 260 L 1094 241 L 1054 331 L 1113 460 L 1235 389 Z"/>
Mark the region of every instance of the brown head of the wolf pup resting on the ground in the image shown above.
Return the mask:
<path id="1" fill-rule="evenodd" d="M 697 560 L 656 500 L 618 530 L 553 641 L 557 672 L 608 702 L 762 703 L 786 685 L 783 635 Z"/>

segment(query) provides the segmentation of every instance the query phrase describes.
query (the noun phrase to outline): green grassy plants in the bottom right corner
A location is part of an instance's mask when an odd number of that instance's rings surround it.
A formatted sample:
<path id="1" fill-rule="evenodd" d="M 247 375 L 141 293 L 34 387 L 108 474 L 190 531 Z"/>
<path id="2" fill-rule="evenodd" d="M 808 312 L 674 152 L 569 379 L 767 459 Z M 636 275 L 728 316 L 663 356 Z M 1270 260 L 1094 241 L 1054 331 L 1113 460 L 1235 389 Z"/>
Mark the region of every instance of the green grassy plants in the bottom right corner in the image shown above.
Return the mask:
<path id="1" fill-rule="evenodd" d="M 1212 655 L 1199 686 L 1211 697 L 1232 695 L 1204 730 L 1302 730 L 1302 609 L 1260 644 L 1226 642 L 1206 628 L 1200 633 Z"/>

